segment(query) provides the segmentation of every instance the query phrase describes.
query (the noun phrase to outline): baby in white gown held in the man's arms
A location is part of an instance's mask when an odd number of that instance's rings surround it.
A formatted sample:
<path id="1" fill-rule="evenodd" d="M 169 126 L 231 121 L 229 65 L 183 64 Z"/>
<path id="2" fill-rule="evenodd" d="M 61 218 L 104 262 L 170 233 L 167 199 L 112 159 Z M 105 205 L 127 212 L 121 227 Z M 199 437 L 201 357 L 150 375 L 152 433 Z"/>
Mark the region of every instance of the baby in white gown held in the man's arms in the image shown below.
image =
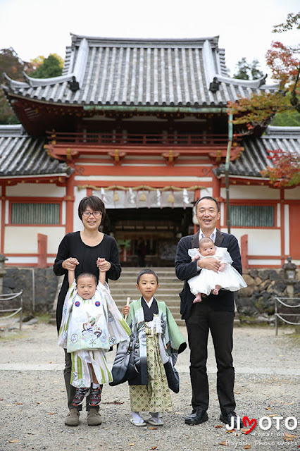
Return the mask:
<path id="1" fill-rule="evenodd" d="M 220 261 L 218 272 L 202 268 L 197 276 L 187 281 L 191 292 L 196 296 L 194 304 L 201 302 L 201 293 L 206 296 L 210 295 L 211 292 L 213 292 L 213 295 L 218 295 L 220 288 L 237 291 L 247 286 L 242 276 L 231 266 L 232 258 L 226 247 L 216 247 L 211 238 L 201 238 L 199 249 L 189 249 L 188 253 L 192 261 L 206 257 L 214 257 Z"/>

